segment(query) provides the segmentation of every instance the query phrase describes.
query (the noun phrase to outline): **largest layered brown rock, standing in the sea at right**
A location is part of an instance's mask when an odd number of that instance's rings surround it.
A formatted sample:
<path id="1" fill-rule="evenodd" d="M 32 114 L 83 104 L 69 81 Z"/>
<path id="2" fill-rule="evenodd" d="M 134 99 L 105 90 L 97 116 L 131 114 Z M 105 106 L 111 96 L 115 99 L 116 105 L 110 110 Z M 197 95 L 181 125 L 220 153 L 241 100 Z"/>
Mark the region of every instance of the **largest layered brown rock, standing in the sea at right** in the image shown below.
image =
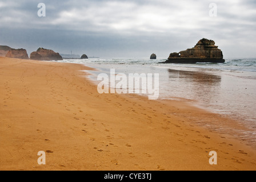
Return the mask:
<path id="1" fill-rule="evenodd" d="M 164 63 L 224 63 L 223 54 L 213 40 L 201 39 L 195 47 L 170 53 Z"/>

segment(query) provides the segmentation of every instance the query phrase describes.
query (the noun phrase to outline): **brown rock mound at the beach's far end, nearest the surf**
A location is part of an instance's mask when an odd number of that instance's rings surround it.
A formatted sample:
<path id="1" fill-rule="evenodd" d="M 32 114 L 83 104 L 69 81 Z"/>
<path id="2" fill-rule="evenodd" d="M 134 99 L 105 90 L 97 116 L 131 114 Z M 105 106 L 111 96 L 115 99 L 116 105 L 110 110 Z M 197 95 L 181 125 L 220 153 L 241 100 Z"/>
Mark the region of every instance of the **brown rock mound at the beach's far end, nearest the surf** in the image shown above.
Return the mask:
<path id="1" fill-rule="evenodd" d="M 41 61 L 63 60 L 59 53 L 44 48 L 38 48 L 36 52 L 32 52 L 30 59 Z"/>

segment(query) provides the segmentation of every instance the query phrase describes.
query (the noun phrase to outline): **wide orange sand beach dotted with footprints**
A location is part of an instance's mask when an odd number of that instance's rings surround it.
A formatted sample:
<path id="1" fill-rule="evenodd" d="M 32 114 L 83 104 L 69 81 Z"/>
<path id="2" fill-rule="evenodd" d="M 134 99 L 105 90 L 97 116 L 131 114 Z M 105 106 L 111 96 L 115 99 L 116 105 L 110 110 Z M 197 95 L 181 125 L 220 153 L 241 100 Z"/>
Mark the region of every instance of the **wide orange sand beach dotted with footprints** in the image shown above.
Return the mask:
<path id="1" fill-rule="evenodd" d="M 99 94 L 86 69 L 0 57 L 0 170 L 256 169 L 255 149 L 193 123 L 229 118 L 183 101 Z"/>

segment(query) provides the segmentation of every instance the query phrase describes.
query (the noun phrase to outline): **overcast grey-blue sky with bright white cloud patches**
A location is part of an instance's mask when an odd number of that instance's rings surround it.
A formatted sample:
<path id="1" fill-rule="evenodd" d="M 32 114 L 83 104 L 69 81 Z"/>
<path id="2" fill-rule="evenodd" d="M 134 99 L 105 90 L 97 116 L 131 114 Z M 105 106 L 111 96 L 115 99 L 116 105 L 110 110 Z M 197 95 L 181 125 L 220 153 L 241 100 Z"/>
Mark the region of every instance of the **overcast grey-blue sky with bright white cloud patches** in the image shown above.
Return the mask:
<path id="1" fill-rule="evenodd" d="M 45 16 L 39 3 L 44 3 Z M 213 4 L 214 3 L 214 4 Z M 214 6 L 212 6 L 214 5 Z M 207 38 L 256 57 L 255 0 L 0 0 L 0 45 L 102 58 L 167 59 Z"/>

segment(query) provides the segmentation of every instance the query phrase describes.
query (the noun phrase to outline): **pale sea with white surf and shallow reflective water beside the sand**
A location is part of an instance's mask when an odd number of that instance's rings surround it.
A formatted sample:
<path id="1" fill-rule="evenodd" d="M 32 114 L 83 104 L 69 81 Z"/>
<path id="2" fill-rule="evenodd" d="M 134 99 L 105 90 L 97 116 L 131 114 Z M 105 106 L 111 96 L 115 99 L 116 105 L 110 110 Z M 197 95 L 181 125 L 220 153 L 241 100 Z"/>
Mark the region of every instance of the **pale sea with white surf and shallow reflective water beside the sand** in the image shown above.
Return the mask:
<path id="1" fill-rule="evenodd" d="M 246 127 L 237 131 L 239 138 L 256 147 L 256 58 L 225 59 L 225 63 L 163 64 L 166 59 L 117 58 L 87 60 L 66 59 L 62 63 L 78 63 L 93 67 L 89 78 L 97 84 L 100 73 L 159 73 L 159 100 L 186 100 L 213 113 L 235 119 Z M 198 125 L 205 125 L 199 123 Z M 208 127 L 222 126 L 207 123 Z M 226 132 L 223 130 L 223 132 Z"/>

